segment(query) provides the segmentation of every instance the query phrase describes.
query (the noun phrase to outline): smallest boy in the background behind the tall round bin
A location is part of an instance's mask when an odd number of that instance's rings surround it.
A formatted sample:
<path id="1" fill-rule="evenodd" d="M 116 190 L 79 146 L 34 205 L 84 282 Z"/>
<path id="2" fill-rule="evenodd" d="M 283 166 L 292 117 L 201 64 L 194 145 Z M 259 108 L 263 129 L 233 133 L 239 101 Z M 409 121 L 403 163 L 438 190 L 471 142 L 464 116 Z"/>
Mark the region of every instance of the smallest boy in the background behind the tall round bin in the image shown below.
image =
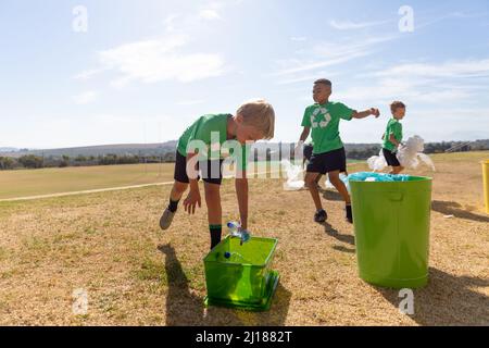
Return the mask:
<path id="1" fill-rule="evenodd" d="M 390 104 L 390 111 L 392 112 L 392 119 L 389 120 L 386 133 L 383 136 L 383 153 L 387 164 L 392 167 L 390 174 L 399 174 L 404 167 L 399 163 L 396 153 L 402 141 L 402 124 L 400 121 L 405 116 L 405 104 L 402 101 L 394 101 Z"/>

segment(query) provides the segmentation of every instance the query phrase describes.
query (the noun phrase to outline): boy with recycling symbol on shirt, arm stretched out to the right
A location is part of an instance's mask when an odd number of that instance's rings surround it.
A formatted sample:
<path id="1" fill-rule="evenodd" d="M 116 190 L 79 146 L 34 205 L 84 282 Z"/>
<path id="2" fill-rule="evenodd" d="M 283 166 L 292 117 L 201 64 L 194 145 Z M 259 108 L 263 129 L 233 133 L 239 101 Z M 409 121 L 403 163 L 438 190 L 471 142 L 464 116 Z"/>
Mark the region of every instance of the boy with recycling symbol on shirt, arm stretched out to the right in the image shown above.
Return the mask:
<path id="1" fill-rule="evenodd" d="M 329 101 L 330 96 L 330 80 L 318 79 L 314 83 L 313 99 L 316 103 L 305 109 L 302 120 L 304 129 L 299 140 L 302 144 L 312 129 L 314 150 L 304 181 L 316 206 L 315 222 L 325 222 L 327 213 L 323 209 L 319 191 L 314 183 L 318 176 L 328 174 L 329 182 L 344 199 L 347 221 L 353 223 L 350 195 L 344 183 L 339 178 L 341 172 L 347 172 L 347 156 L 339 136 L 339 122 L 340 120 L 365 119 L 369 115 L 378 117 L 380 112 L 375 108 L 358 112 L 340 102 Z"/>

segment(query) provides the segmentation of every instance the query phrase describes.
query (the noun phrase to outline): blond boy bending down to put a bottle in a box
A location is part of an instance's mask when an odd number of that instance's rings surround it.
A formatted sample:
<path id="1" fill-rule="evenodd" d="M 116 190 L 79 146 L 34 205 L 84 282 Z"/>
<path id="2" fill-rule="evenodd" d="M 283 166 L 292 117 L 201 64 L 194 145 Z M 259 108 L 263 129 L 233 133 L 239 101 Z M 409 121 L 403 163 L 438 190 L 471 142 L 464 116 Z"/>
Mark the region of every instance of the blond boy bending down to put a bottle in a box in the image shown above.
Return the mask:
<path id="1" fill-rule="evenodd" d="M 175 183 L 170 195 L 168 207 L 160 219 L 162 229 L 170 228 L 183 195 L 190 187 L 184 201 L 185 211 L 196 213 L 201 207 L 198 170 L 204 182 L 208 206 L 211 249 L 222 235 L 221 183 L 223 179 L 223 158 L 233 151 L 236 160 L 236 194 L 238 197 L 241 228 L 248 228 L 248 179 L 246 175 L 247 145 L 260 139 L 272 139 L 275 129 L 275 112 L 265 100 L 254 100 L 242 104 L 236 115 L 211 114 L 199 117 L 185 130 L 178 140 Z M 226 148 L 226 151 L 222 151 Z"/>

